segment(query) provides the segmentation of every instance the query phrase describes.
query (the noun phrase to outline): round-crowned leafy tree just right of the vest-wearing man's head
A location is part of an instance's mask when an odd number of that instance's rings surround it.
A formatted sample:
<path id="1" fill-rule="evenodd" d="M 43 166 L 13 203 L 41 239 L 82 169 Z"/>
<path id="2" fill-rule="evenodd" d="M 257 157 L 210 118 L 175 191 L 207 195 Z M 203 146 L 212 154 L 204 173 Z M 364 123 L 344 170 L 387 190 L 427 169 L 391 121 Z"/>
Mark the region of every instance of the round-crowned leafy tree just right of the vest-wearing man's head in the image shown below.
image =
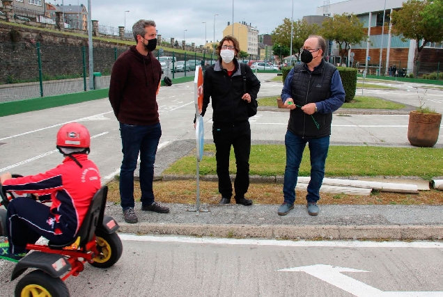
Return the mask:
<path id="1" fill-rule="evenodd" d="M 349 15 L 348 13 L 327 17 L 322 22 L 320 35 L 325 39 L 336 42 L 339 46 L 341 61 L 343 61 L 345 54 L 348 54 L 350 45 L 357 45 L 366 40 L 363 23 L 359 21 L 356 15 Z"/>

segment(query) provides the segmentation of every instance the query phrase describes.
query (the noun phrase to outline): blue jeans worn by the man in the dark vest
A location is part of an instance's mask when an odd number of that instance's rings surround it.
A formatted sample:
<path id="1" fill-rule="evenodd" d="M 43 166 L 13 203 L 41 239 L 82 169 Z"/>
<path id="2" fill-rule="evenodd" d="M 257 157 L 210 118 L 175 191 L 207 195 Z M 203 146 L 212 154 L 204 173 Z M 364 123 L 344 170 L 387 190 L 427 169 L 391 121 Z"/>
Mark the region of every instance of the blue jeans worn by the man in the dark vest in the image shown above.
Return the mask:
<path id="1" fill-rule="evenodd" d="M 302 138 L 286 131 L 286 168 L 283 182 L 284 202 L 293 204 L 295 202 L 295 186 L 297 186 L 298 170 L 302 162 L 302 156 L 306 143 L 309 144 L 311 155 L 311 181 L 308 185 L 307 202 L 320 200 L 320 186 L 325 177 L 325 162 L 327 150 L 329 149 L 329 136 L 322 138 Z"/>

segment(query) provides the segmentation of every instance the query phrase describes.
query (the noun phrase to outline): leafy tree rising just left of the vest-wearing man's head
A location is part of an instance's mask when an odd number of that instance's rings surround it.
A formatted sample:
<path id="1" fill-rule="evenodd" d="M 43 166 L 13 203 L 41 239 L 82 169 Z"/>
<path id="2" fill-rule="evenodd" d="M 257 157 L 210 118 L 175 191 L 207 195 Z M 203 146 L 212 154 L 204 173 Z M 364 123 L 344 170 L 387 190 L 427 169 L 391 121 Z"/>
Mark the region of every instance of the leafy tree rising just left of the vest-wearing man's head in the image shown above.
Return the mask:
<path id="1" fill-rule="evenodd" d="M 283 19 L 283 24 L 272 31 L 272 42 L 274 44 L 277 43 L 290 49 L 290 23 L 290 19 L 286 17 Z M 302 19 L 293 22 L 293 52 L 290 54 L 298 53 L 300 56 L 300 49 L 303 47 L 304 41 L 308 39 L 309 35 L 316 34 L 318 29 L 317 24 L 309 25 Z"/>

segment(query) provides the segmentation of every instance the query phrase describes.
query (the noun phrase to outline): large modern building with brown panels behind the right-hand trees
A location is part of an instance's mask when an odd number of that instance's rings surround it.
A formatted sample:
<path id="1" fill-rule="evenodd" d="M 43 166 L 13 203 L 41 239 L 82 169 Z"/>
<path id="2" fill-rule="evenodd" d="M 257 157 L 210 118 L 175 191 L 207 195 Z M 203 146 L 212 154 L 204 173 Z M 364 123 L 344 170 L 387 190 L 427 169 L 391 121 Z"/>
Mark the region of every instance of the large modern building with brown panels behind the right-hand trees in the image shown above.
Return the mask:
<path id="1" fill-rule="evenodd" d="M 396 65 L 397 69 L 407 68 L 407 71 L 410 72 L 414 67 L 416 42 L 415 40 L 403 41 L 394 35 L 390 22 L 391 13 L 394 10 L 400 10 L 403 2 L 403 0 L 349 0 L 329 6 L 320 6 L 316 13 L 331 16 L 352 13 L 357 15 L 360 22 L 364 24 L 368 41 L 361 42 L 359 45 L 351 45 L 347 57 L 349 62 L 344 62 L 352 63 L 360 69 L 366 69 L 371 74 L 376 74 L 380 65 L 382 74 L 388 74 L 389 67 L 392 65 Z M 383 26 L 383 24 L 388 25 Z M 332 45 L 328 54 L 332 57 L 339 56 L 336 45 Z M 419 61 L 420 72 L 425 74 L 437 70 L 439 62 L 443 62 L 442 42 L 433 43 L 423 48 Z"/>

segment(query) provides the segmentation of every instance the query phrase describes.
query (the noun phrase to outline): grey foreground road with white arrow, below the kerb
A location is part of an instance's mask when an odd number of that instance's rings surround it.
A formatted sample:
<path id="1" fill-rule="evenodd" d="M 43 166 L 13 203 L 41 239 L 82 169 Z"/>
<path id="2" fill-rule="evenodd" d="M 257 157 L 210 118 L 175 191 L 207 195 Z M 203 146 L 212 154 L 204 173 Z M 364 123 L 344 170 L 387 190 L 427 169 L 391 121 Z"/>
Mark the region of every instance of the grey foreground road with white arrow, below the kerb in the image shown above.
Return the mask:
<path id="1" fill-rule="evenodd" d="M 443 296 L 442 243 L 121 238 L 120 261 L 86 265 L 71 296 Z M 12 268 L 0 261 L 0 296 Z"/>

